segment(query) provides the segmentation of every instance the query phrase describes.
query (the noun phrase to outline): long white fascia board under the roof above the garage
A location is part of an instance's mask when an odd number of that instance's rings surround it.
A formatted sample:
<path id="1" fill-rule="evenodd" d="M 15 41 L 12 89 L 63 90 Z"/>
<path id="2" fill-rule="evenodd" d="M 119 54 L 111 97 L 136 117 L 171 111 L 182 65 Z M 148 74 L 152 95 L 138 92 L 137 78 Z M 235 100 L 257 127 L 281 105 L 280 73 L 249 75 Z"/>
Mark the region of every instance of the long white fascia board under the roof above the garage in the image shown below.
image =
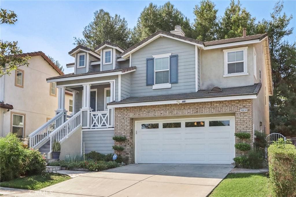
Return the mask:
<path id="1" fill-rule="evenodd" d="M 256 99 L 256 98 L 257 98 L 257 95 L 223 96 L 223 97 L 202 98 L 202 99 L 184 99 L 184 100 L 172 100 L 172 101 L 154 101 L 154 102 L 141 102 L 141 103 L 114 104 L 114 105 L 107 106 L 107 108 L 178 104 L 178 101 L 179 101 L 179 104 L 183 104 L 182 101 L 185 101 L 184 103 L 198 103 L 198 102 L 209 102 L 209 101 L 228 101 L 228 100 Z"/>

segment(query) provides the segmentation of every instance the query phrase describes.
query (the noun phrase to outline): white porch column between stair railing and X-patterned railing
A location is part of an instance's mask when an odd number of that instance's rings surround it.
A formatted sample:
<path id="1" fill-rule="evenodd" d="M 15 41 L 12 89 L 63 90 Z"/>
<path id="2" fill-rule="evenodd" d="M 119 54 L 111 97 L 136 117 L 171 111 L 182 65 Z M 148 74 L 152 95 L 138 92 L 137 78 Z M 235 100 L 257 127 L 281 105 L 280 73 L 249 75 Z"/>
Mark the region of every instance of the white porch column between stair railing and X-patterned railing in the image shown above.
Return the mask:
<path id="1" fill-rule="evenodd" d="M 91 84 L 83 85 L 83 103 L 82 103 L 82 128 L 90 127 L 90 96 L 91 96 Z"/>

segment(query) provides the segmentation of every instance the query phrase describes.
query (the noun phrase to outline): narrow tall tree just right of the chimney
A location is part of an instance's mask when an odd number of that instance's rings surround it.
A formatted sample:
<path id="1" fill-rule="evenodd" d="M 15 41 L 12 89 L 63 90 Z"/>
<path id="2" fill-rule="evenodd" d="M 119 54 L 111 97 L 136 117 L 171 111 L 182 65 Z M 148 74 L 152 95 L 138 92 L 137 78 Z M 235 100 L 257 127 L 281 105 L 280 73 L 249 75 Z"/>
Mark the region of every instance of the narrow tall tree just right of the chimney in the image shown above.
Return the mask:
<path id="1" fill-rule="evenodd" d="M 194 35 L 200 41 L 212 41 L 216 38 L 218 28 L 217 21 L 218 9 L 210 0 L 200 1 L 200 6 L 195 5 L 194 8 Z"/>

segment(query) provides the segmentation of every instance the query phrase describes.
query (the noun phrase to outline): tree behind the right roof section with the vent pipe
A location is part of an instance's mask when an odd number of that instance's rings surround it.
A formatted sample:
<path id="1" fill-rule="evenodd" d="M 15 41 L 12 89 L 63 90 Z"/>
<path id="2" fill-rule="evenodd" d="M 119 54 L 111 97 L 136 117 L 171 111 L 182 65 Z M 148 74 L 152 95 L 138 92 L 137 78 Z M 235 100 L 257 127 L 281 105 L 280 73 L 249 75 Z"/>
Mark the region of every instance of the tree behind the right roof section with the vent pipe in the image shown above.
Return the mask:
<path id="1" fill-rule="evenodd" d="M 241 7 L 242 4 L 231 0 L 229 7 L 226 8 L 224 16 L 219 22 L 218 38 L 235 38 L 242 36 L 242 29 L 247 28 L 247 33 L 253 35 L 256 30 L 256 18 L 250 12 Z"/>

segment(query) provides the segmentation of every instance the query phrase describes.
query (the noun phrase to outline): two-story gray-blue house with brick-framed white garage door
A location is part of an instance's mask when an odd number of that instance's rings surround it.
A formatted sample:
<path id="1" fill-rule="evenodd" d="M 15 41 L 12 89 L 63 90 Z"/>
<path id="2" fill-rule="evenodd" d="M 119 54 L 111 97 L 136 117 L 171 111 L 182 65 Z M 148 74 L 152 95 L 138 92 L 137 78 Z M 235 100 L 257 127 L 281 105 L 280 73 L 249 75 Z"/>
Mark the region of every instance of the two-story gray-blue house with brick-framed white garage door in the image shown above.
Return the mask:
<path id="1" fill-rule="evenodd" d="M 113 153 L 129 163 L 231 164 L 240 155 L 235 132 L 269 133 L 272 95 L 268 35 L 202 42 L 180 26 L 157 31 L 129 49 L 104 41 L 77 46 L 74 73 L 49 77 L 61 93 L 55 130 L 32 136 L 32 147 L 58 140 L 65 154 Z M 65 90 L 73 115 L 65 114 Z M 65 120 L 65 119 L 63 119 Z M 112 136 L 126 136 L 114 142 Z M 49 152 L 50 157 L 50 152 Z"/>

